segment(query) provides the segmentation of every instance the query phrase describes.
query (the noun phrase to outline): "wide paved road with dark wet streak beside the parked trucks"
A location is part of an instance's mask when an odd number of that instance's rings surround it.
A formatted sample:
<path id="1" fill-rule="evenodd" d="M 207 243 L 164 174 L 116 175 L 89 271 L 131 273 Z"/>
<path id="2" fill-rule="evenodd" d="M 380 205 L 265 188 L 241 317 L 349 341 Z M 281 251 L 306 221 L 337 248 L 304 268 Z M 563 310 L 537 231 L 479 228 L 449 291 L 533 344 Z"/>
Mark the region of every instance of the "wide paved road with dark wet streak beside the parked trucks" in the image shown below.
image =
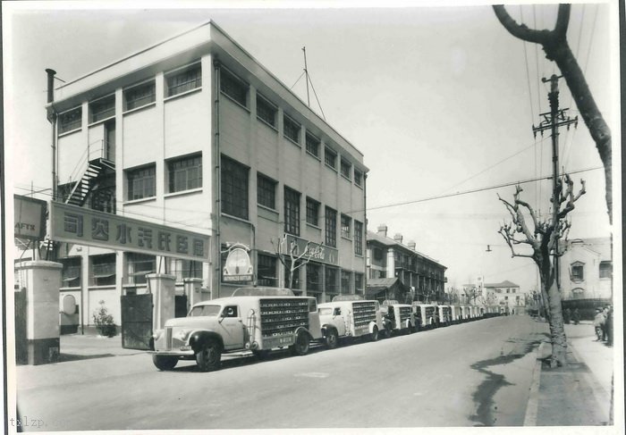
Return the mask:
<path id="1" fill-rule="evenodd" d="M 140 352 L 20 366 L 18 406 L 46 431 L 521 425 L 545 332 L 499 317 L 208 373 Z"/>

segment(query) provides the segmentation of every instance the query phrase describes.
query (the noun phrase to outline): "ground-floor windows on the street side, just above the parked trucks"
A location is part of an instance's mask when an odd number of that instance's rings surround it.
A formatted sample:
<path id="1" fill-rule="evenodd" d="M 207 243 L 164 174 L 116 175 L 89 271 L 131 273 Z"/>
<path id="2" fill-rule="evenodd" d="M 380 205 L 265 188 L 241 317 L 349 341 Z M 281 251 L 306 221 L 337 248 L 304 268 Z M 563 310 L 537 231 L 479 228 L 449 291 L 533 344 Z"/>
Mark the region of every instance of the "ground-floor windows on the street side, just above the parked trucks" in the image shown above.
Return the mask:
<path id="1" fill-rule="evenodd" d="M 349 294 L 355 290 L 363 290 L 363 273 L 350 272 L 327 264 L 309 262 L 300 266 L 296 264 L 293 272 L 291 264 L 284 268 L 285 285 L 291 289 L 302 289 L 301 274 L 306 268 L 307 291 Z M 351 276 L 354 275 L 352 283 Z M 290 276 L 291 275 L 291 276 Z M 324 278 L 322 278 L 322 275 Z M 290 284 L 291 280 L 291 284 Z M 266 287 L 278 286 L 278 259 L 273 255 L 258 254 L 258 285 Z"/>

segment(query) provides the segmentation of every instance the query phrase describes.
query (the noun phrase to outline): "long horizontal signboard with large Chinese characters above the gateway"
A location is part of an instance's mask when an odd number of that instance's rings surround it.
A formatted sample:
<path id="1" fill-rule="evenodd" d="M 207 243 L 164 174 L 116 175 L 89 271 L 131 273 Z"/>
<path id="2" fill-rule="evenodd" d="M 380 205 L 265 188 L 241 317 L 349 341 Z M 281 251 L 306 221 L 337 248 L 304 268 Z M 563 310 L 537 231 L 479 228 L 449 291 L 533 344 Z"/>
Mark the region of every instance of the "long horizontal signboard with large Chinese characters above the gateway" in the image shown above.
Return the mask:
<path id="1" fill-rule="evenodd" d="M 206 262 L 209 237 L 88 208 L 50 204 L 50 238 L 90 247 Z"/>

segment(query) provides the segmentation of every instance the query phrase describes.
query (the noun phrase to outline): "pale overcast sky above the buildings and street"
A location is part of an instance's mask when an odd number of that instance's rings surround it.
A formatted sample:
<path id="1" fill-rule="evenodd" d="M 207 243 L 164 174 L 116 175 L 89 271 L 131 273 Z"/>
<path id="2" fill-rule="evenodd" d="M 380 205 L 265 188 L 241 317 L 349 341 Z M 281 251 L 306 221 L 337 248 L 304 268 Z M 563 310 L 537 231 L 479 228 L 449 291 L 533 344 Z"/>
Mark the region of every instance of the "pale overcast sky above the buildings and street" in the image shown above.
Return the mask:
<path id="1" fill-rule="evenodd" d="M 536 285 L 534 264 L 512 259 L 497 234 L 507 213 L 496 193 L 511 198 L 513 187 L 395 204 L 551 174 L 550 138 L 534 139 L 532 125 L 549 110 L 549 89 L 540 79 L 558 71 L 540 47 L 509 35 L 486 5 L 348 9 L 332 2 L 325 5 L 342 7 L 254 9 L 255 4 L 237 3 L 248 7 L 223 9 L 207 4 L 105 10 L 103 4 L 81 2 L 89 9 L 80 11 L 59 2 L 3 3 L 7 185 L 14 183 L 18 194 L 27 194 L 31 183 L 36 190 L 50 187 L 46 68 L 69 81 L 214 20 L 288 87 L 302 73 L 306 46 L 326 121 L 365 155 L 368 230 L 386 223 L 390 236 L 415 240 L 420 252 L 448 267 L 448 286 L 478 275 L 487 282 L 512 280 L 525 290 Z M 574 4 L 568 31 L 612 127 L 613 146 L 619 144 L 618 35 L 610 25 L 615 5 Z M 556 6 L 508 10 L 531 28 L 554 26 Z M 563 80 L 560 86 L 561 105 L 571 107 L 573 117 L 578 112 Z M 304 79 L 293 90 L 306 101 Z M 319 113 L 313 96 L 311 102 Z M 563 129 L 559 139 L 566 171 L 601 166 L 582 121 L 577 130 Z M 603 171 L 574 175 L 576 188 L 580 178 L 587 180 L 588 194 L 571 213 L 570 238 L 608 237 Z M 551 181 L 523 188 L 523 196 L 546 213 Z M 49 199 L 46 193 L 37 197 Z"/>

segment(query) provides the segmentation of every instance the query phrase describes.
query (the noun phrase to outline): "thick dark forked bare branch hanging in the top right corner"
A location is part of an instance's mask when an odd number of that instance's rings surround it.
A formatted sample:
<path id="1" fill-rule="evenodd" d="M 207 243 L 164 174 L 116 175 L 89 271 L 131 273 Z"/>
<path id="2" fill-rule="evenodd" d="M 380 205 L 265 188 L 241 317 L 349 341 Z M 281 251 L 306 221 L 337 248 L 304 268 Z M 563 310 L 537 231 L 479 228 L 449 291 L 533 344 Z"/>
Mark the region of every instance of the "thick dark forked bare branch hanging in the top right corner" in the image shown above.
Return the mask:
<path id="1" fill-rule="evenodd" d="M 570 88 L 576 106 L 582 119 L 587 125 L 591 138 L 596 142 L 596 149 L 600 160 L 605 166 L 605 199 L 609 221 L 613 222 L 613 178 L 611 173 L 611 130 L 597 108 L 596 101 L 591 95 L 585 75 L 571 53 L 567 43 L 567 28 L 570 23 L 571 4 L 559 4 L 556 24 L 553 30 L 529 29 L 525 24 L 518 24 L 506 12 L 502 4 L 494 6 L 495 16 L 515 38 L 540 44 L 546 58 L 556 63 L 563 74 L 563 78 Z"/>

